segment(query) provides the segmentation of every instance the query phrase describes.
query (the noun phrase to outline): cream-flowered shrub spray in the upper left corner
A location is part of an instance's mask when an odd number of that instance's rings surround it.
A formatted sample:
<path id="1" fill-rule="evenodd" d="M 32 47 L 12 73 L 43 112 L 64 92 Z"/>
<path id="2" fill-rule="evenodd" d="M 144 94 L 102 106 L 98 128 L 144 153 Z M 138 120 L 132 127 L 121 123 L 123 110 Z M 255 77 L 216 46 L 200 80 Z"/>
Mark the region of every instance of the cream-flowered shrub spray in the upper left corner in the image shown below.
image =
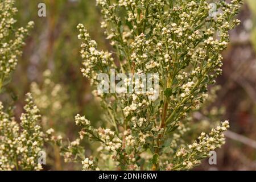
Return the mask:
<path id="1" fill-rule="evenodd" d="M 7 78 L 16 68 L 18 56 L 22 53 L 20 48 L 24 45 L 28 30 L 34 26 L 34 22 L 29 22 L 26 28 L 14 28 L 14 16 L 18 11 L 14 2 L 0 1 L 0 89 L 7 84 Z"/>

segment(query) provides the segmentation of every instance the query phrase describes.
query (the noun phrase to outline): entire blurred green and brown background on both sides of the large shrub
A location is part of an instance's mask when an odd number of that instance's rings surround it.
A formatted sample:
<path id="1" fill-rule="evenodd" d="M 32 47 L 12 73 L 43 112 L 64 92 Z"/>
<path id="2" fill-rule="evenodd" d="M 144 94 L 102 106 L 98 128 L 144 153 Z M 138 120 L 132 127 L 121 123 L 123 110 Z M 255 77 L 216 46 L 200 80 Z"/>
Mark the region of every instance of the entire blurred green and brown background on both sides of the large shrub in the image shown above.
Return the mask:
<path id="1" fill-rule="evenodd" d="M 46 3 L 46 17 L 38 16 L 38 4 Z M 29 20 L 35 28 L 23 48 L 11 84 L 1 100 L 15 104 L 15 115 L 23 111 L 24 96 L 32 92 L 43 115 L 46 129 L 70 140 L 76 139 L 79 128 L 74 116 L 86 115 L 93 125 L 101 126 L 100 104 L 90 93 L 88 80 L 80 72 L 80 41 L 76 26 L 85 24 L 100 49 L 111 49 L 100 28 L 100 10 L 94 0 L 22 0 L 16 1 L 16 26 Z M 256 169 L 256 1 L 245 0 L 238 15 L 241 25 L 230 31 L 231 42 L 222 53 L 222 76 L 214 89 L 214 100 L 204 110 L 192 113 L 193 122 L 205 125 L 228 119 L 230 132 L 226 144 L 217 151 L 217 165 L 208 160 L 195 170 L 255 170 Z M 206 117 L 207 116 L 207 117 Z M 88 146 L 87 143 L 84 143 Z M 52 151 L 52 152 L 51 152 Z M 90 150 L 86 150 L 90 154 Z M 45 169 L 79 169 L 64 164 L 56 148 L 49 147 L 49 162 Z"/>

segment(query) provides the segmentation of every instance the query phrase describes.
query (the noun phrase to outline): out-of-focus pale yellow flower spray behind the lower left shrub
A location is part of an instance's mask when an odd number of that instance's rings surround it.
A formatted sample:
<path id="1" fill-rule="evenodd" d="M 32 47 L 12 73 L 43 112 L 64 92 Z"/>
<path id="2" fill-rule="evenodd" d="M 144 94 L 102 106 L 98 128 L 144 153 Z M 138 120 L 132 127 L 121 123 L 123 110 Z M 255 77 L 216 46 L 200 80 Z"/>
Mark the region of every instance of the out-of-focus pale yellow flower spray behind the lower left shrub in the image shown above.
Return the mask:
<path id="1" fill-rule="evenodd" d="M 44 128 L 53 127 L 65 133 L 76 108 L 69 104 L 64 86 L 52 80 L 52 72 L 47 69 L 43 72 L 43 84 L 32 82 L 30 90 L 36 106 L 41 111 Z"/>

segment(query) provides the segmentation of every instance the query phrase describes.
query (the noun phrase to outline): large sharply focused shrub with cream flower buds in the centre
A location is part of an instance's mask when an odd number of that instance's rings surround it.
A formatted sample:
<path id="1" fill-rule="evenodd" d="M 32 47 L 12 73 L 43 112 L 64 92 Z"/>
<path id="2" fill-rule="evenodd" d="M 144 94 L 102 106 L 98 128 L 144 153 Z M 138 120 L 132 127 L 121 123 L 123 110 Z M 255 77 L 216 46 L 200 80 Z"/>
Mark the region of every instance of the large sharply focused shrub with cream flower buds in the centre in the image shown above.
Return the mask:
<path id="1" fill-rule="evenodd" d="M 90 160 L 82 159 L 84 169 L 190 169 L 224 144 L 228 121 L 209 134 L 201 133 L 192 144 L 177 137 L 187 131 L 185 119 L 207 99 L 208 85 L 221 74 L 228 31 L 240 23 L 234 16 L 241 0 L 215 2 L 221 13 L 209 16 L 211 6 L 202 0 L 97 0 L 104 18 L 101 27 L 115 51 L 98 51 L 79 24 L 82 74 L 96 88 L 102 84 L 101 73 L 110 75 L 111 69 L 158 73 L 160 95 L 150 100 L 156 90 L 146 94 L 94 90 L 106 110 L 106 125 L 96 129 L 85 117 L 76 116 L 76 124 L 82 127 L 80 139 L 100 143 Z M 145 86 L 134 77 L 124 82 L 127 88 Z"/>

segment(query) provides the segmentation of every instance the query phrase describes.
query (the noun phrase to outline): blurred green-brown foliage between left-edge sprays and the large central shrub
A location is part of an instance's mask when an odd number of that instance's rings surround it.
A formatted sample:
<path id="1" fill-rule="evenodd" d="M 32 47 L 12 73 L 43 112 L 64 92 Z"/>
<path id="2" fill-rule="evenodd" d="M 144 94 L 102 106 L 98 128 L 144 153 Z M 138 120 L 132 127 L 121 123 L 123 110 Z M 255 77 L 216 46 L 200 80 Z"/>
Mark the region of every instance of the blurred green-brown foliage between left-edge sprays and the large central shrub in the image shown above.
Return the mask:
<path id="1" fill-rule="evenodd" d="M 46 3 L 46 17 L 38 16 L 38 4 Z M 27 40 L 23 57 L 19 60 L 15 80 L 10 86 L 10 93 L 23 100 L 32 81 L 43 83 L 42 73 L 46 69 L 52 72 L 52 81 L 64 85 L 69 102 L 76 113 L 86 114 L 92 121 L 100 119 L 98 108 L 92 101 L 90 86 L 80 73 L 80 43 L 77 40 L 76 26 L 84 23 L 93 38 L 105 48 L 103 32 L 100 28 L 100 12 L 94 1 L 82 0 L 44 0 L 16 1 L 19 13 L 18 24 L 28 20 L 35 22 L 35 28 Z M 103 41 L 102 41 L 103 40 Z M 17 89 L 17 86 L 18 89 Z M 94 108 L 94 109 L 88 109 Z M 47 114 L 47 113 L 43 113 Z M 75 115 L 75 113 L 73 113 Z M 70 120 L 73 121 L 73 115 Z"/>

